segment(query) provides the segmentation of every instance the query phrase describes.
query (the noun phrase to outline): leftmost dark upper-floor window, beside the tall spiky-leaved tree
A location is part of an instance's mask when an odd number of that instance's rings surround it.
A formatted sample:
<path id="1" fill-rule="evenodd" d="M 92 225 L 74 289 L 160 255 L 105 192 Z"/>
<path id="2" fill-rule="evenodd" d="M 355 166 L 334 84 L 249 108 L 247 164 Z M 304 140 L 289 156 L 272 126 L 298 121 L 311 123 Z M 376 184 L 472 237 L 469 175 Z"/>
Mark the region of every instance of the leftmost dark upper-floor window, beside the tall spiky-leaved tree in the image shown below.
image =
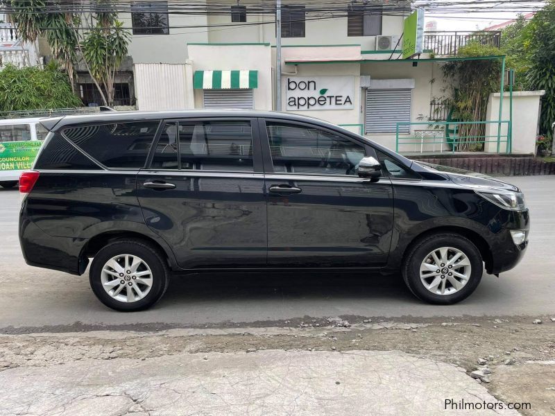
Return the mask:
<path id="1" fill-rule="evenodd" d="M 168 35 L 168 3 L 137 2 L 131 5 L 133 35 Z"/>

